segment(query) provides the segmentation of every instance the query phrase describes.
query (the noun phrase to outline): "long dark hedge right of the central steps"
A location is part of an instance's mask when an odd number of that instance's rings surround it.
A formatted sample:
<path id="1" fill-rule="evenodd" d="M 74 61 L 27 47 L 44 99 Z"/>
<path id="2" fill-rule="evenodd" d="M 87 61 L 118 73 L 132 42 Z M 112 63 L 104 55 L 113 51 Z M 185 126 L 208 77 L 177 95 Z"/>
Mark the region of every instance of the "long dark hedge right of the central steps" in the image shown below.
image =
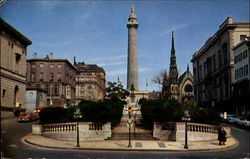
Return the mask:
<path id="1" fill-rule="evenodd" d="M 175 100 L 141 99 L 143 121 L 150 128 L 153 122 L 180 122 L 185 110 L 189 111 L 191 122 L 216 125 L 220 122 L 219 113 L 212 108 L 199 108 L 192 104 L 181 105 Z"/>

